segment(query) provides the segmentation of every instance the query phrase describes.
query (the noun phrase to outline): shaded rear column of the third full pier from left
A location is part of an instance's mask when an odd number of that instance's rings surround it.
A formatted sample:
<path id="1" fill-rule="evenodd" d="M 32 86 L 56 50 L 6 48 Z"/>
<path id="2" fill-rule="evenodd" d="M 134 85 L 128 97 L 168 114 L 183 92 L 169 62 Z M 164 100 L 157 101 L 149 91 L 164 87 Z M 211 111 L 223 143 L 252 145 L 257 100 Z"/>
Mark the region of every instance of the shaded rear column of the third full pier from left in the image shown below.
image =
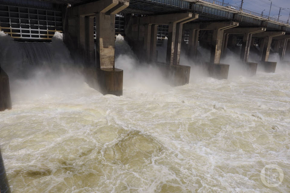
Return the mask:
<path id="1" fill-rule="evenodd" d="M 199 30 L 189 30 L 187 55 L 192 59 L 196 59 L 197 56 L 198 37 Z"/>

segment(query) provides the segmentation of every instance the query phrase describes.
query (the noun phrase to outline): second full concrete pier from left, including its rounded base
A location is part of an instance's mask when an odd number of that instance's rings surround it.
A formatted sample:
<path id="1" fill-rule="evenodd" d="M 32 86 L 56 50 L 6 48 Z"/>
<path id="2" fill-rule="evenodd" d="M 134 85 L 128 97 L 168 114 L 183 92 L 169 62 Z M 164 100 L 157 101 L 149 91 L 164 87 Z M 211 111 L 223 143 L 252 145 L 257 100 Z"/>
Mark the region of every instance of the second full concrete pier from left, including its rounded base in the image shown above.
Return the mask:
<path id="1" fill-rule="evenodd" d="M 128 24 L 131 27 L 126 29 L 127 38 L 131 44 L 141 44 L 143 50 L 138 50 L 139 58 L 144 58 L 145 53 L 147 61 L 156 61 L 156 42 L 157 42 L 157 27 L 159 24 L 169 24 L 166 64 L 159 63 L 161 72 L 172 86 L 188 84 L 190 76 L 190 67 L 179 65 L 181 42 L 182 42 L 182 27 L 183 24 L 198 18 L 198 14 L 178 13 L 166 15 L 154 15 L 147 17 L 130 17 Z M 144 27 L 144 33 L 137 30 L 138 26 Z M 143 41 L 142 41 L 143 39 Z M 141 41 L 140 41 L 141 40 Z M 140 46 L 136 46 L 137 49 Z M 136 50 L 134 50 L 136 52 Z"/>

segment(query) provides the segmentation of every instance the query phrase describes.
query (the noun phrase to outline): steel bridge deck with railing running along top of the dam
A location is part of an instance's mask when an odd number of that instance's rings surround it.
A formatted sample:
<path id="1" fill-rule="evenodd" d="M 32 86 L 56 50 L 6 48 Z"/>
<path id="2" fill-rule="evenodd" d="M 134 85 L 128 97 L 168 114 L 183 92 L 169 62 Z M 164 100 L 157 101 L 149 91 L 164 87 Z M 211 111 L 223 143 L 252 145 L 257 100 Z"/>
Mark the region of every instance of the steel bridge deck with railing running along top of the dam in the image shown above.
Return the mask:
<path id="1" fill-rule="evenodd" d="M 46 2 L 53 2 L 59 4 L 84 4 L 93 2 L 94 0 L 44 0 Z M 285 30 L 290 32 L 289 23 L 278 20 L 274 17 L 259 14 L 250 10 L 241 9 L 240 7 L 229 5 L 216 0 L 130 0 L 130 5 L 125 12 L 137 14 L 160 14 L 164 12 L 174 11 L 188 11 L 193 10 L 198 14 L 212 15 L 214 17 L 205 17 L 204 19 L 218 19 L 228 18 L 245 22 L 247 24 L 263 25 L 263 27 L 270 27 L 278 30 Z M 239 16 L 236 16 L 239 15 Z M 245 18 L 247 17 L 247 18 Z M 203 19 L 203 17 L 201 17 Z M 258 21 L 260 22 L 258 22 Z M 263 23 L 264 22 L 264 23 Z M 265 23 L 266 22 L 266 23 Z M 277 26 L 276 26 L 276 25 Z M 284 27 L 284 28 L 282 28 Z M 286 28 L 285 28 L 286 27 Z"/>

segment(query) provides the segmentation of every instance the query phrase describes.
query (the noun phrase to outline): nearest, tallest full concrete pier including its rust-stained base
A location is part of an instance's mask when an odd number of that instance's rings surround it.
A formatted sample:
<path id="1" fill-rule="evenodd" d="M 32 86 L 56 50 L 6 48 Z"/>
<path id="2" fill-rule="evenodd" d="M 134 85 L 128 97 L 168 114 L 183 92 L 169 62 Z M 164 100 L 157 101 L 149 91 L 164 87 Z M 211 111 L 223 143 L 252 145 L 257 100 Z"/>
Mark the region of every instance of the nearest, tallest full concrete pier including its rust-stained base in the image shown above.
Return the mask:
<path id="1" fill-rule="evenodd" d="M 115 14 L 128 6 L 129 0 L 99 0 L 73 6 L 67 11 L 65 43 L 73 50 L 73 54 L 80 55 L 86 63 L 92 63 L 95 58 L 95 65 L 85 68 L 84 73 L 88 84 L 103 94 L 120 96 L 123 93 L 123 71 L 114 68 Z M 93 35 L 94 17 L 96 50 Z"/>

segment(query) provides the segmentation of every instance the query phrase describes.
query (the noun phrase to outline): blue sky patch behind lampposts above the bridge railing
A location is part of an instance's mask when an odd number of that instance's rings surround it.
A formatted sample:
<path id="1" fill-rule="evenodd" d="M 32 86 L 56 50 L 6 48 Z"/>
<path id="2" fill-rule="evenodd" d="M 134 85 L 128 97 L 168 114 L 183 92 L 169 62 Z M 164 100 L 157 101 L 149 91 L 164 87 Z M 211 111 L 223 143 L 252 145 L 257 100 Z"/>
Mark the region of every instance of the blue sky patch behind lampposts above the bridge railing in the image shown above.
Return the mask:
<path id="1" fill-rule="evenodd" d="M 218 1 L 222 2 L 222 0 Z M 224 2 L 235 6 L 240 6 L 241 4 L 241 0 L 224 0 Z M 244 0 L 243 8 L 257 13 L 261 13 L 265 9 L 263 14 L 269 15 L 270 5 L 271 2 L 269 0 Z M 280 7 L 284 8 L 284 10 L 281 11 L 279 20 L 287 21 L 290 13 L 290 0 L 272 0 L 270 17 L 278 18 Z"/>

